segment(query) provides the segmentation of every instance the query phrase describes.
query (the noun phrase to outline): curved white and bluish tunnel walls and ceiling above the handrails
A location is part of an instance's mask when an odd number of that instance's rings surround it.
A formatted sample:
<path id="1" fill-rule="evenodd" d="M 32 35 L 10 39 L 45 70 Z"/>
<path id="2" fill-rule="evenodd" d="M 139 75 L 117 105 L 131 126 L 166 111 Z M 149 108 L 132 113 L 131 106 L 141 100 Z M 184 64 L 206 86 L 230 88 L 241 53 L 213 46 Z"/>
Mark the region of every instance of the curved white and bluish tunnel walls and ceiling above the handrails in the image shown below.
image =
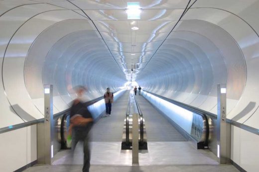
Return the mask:
<path id="1" fill-rule="evenodd" d="M 91 100 L 136 80 L 212 113 L 226 83 L 227 117 L 259 128 L 259 0 L 139 4 L 140 19 L 128 20 L 121 0 L 1 0 L 0 127 L 43 117 L 44 84 L 57 113 L 75 85 Z"/>

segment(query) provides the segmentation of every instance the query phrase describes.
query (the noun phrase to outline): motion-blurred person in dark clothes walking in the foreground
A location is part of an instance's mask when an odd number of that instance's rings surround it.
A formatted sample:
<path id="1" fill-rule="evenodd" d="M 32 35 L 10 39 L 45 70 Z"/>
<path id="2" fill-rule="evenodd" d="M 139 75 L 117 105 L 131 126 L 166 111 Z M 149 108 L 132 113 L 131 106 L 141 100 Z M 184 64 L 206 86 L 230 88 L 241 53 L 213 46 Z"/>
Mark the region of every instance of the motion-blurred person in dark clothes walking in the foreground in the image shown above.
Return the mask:
<path id="1" fill-rule="evenodd" d="M 84 165 L 83 172 L 89 172 L 90 169 L 90 148 L 89 148 L 89 131 L 93 125 L 93 117 L 88 111 L 87 107 L 83 104 L 83 95 L 86 92 L 84 86 L 77 86 L 75 88 L 77 98 L 72 102 L 72 107 L 70 110 L 70 127 L 72 130 L 72 155 L 78 141 L 84 142 Z M 71 137 L 71 135 L 70 135 Z"/>

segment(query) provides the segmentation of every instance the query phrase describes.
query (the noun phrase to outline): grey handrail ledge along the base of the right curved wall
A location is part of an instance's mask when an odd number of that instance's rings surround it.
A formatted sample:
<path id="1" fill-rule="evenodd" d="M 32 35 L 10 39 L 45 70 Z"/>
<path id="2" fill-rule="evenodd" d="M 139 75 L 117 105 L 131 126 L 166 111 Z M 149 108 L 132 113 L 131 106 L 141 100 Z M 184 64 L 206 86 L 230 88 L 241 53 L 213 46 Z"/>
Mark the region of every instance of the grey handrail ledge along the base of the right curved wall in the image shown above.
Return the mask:
<path id="1" fill-rule="evenodd" d="M 211 118 L 217 119 L 217 115 L 212 114 L 212 113 L 210 113 L 210 112 L 207 112 L 207 111 L 198 109 L 198 108 L 196 108 L 196 107 L 193 107 L 193 106 L 190 106 L 190 105 L 187 105 L 187 104 L 184 104 L 184 103 L 181 103 L 181 102 L 172 100 L 172 99 L 168 99 L 168 98 L 166 98 L 166 97 L 157 95 L 157 94 L 155 94 L 155 93 L 151 93 L 151 92 L 146 91 L 146 90 L 143 90 L 143 91 L 145 91 L 145 92 L 147 92 L 147 93 L 149 93 L 149 94 L 152 94 L 152 95 L 154 95 L 154 96 L 156 96 L 156 97 L 159 97 L 159 98 L 161 98 L 161 99 L 163 99 L 163 100 L 165 100 L 165 101 L 168 101 L 168 102 L 170 102 L 170 103 L 173 103 L 173 104 L 175 104 L 175 105 L 177 105 L 177 106 L 180 106 L 180 107 L 182 107 L 182 108 L 185 108 L 185 109 L 187 109 L 187 110 L 189 110 L 189 111 L 195 112 L 195 113 L 197 113 L 197 114 L 205 114 L 205 115 L 210 116 Z M 227 119 L 227 122 L 230 123 L 230 124 L 232 124 L 232 125 L 234 125 L 234 126 L 236 126 L 236 127 L 242 128 L 242 129 L 244 129 L 244 130 L 246 130 L 246 131 L 248 131 L 248 132 L 251 132 L 251 133 L 254 133 L 254 134 L 259 135 L 259 129 L 257 129 L 257 128 L 248 126 L 248 125 L 246 125 L 246 124 L 243 124 L 243 123 L 240 123 L 240 122 L 231 120 L 231 119 Z"/>

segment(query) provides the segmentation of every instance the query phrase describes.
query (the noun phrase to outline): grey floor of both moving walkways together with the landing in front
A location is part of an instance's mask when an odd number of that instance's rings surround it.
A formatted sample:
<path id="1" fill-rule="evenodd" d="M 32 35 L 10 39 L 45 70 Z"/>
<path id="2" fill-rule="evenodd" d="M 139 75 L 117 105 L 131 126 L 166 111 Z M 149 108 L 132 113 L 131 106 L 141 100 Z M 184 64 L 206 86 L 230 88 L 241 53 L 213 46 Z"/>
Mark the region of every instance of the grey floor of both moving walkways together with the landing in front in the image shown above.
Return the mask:
<path id="1" fill-rule="evenodd" d="M 92 129 L 91 172 L 238 172 L 232 165 L 219 165 L 212 152 L 197 150 L 192 143 L 185 141 L 141 97 L 138 99 L 146 117 L 148 150 L 140 151 L 140 166 L 132 167 L 131 151 L 121 150 L 128 95 L 124 94 L 113 104 L 112 116 L 100 119 Z M 149 116 L 148 112 L 151 112 Z M 69 150 L 62 150 L 55 155 L 52 166 L 35 166 L 25 172 L 81 172 L 82 151 L 82 143 L 79 143 L 74 158 L 70 156 Z"/>

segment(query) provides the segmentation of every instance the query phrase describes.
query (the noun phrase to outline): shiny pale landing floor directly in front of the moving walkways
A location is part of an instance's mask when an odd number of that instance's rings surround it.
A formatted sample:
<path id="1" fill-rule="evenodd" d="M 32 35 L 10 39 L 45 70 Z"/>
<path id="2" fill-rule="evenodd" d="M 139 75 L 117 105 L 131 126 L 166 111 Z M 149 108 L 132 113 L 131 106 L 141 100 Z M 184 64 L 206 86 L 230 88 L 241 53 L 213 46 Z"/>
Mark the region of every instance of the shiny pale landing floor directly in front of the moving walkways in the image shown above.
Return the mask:
<path id="1" fill-rule="evenodd" d="M 121 142 L 92 142 L 92 165 L 131 165 L 131 150 L 121 150 Z M 83 164 L 83 148 L 79 143 L 72 158 L 70 150 L 54 157 L 53 165 Z M 209 150 L 197 150 L 190 142 L 148 142 L 148 150 L 139 151 L 139 165 L 218 165 Z"/>

